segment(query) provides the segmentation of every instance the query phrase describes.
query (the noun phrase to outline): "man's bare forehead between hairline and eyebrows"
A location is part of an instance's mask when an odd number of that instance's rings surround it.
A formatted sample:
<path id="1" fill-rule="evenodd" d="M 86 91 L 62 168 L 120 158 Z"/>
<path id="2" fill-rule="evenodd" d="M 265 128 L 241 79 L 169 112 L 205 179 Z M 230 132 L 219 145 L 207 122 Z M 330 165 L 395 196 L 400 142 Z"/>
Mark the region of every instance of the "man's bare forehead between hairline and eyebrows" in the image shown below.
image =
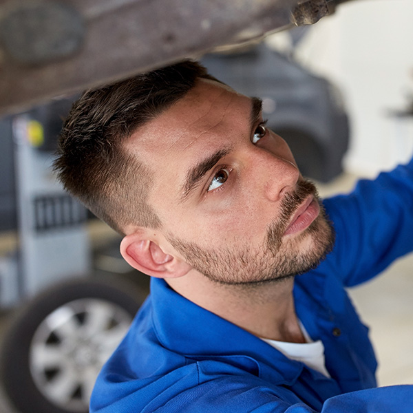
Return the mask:
<path id="1" fill-rule="evenodd" d="M 176 188 L 206 154 L 249 133 L 251 99 L 200 79 L 183 98 L 140 127 L 125 143 L 152 173 L 154 188 Z"/>

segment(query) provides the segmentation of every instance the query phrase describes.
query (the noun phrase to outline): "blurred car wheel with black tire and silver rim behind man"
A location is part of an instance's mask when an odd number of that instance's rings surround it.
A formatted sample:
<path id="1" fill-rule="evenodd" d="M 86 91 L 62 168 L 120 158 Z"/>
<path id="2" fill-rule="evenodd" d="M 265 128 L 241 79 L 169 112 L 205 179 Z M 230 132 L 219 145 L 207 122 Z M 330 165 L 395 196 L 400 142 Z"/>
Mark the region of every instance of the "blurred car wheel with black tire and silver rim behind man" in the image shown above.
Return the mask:
<path id="1" fill-rule="evenodd" d="M 76 279 L 19 311 L 0 353 L 3 388 L 19 412 L 88 412 L 97 372 L 145 298 L 122 284 Z"/>

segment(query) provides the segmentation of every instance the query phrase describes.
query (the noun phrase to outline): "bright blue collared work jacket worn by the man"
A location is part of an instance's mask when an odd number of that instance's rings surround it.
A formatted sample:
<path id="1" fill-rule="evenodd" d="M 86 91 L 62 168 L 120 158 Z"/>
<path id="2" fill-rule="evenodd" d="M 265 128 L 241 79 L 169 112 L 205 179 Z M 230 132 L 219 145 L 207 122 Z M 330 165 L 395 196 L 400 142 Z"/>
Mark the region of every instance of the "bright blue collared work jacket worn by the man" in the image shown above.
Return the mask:
<path id="1" fill-rule="evenodd" d="M 413 162 L 324 204 L 335 248 L 296 277 L 294 298 L 308 334 L 324 343 L 331 378 L 152 279 L 100 372 L 91 412 L 413 412 L 413 386 L 376 388 L 368 328 L 346 293 L 413 251 Z"/>

